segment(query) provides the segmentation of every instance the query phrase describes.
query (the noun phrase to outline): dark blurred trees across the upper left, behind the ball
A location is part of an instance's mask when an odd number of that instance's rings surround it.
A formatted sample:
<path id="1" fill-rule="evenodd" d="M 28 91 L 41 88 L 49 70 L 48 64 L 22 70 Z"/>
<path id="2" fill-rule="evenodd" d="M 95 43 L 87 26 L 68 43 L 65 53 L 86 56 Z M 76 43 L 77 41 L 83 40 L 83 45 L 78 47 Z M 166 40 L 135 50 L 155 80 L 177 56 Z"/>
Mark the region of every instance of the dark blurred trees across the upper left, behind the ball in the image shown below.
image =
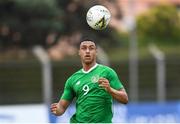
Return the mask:
<path id="1" fill-rule="evenodd" d="M 37 44 L 47 47 L 49 43 L 56 44 L 59 37 L 71 37 L 74 32 L 81 32 L 104 46 L 118 46 L 118 33 L 110 28 L 96 31 L 87 25 L 86 12 L 91 6 L 81 0 L 0 1 L 0 49 L 28 48 Z M 55 41 L 47 43 L 50 35 Z"/>

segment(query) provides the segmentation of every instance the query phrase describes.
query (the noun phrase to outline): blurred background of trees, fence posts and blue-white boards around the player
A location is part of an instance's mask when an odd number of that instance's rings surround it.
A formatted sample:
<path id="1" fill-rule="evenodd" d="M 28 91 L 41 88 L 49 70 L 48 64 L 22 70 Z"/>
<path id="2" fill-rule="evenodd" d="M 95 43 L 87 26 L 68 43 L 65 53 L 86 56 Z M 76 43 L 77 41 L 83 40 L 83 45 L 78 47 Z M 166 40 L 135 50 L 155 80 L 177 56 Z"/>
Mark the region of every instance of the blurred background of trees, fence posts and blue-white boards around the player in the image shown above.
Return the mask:
<path id="1" fill-rule="evenodd" d="M 86 23 L 96 4 L 112 15 L 102 31 Z M 129 95 L 113 122 L 180 122 L 179 0 L 0 0 L 0 122 L 68 122 L 74 104 L 60 118 L 48 107 L 81 68 L 87 37 Z"/>

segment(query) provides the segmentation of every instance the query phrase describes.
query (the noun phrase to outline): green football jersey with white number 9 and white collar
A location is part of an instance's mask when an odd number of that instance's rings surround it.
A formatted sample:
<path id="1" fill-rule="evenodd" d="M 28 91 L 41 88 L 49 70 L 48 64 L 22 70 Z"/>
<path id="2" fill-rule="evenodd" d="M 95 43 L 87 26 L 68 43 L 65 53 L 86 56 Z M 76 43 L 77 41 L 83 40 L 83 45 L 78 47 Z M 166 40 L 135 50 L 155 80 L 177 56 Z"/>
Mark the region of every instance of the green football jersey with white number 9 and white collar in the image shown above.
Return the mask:
<path id="1" fill-rule="evenodd" d="M 76 113 L 71 117 L 71 123 L 112 122 L 112 96 L 99 86 L 100 77 L 108 79 L 114 89 L 123 88 L 116 72 L 100 64 L 89 71 L 81 69 L 67 80 L 61 99 L 71 101 L 76 97 Z"/>

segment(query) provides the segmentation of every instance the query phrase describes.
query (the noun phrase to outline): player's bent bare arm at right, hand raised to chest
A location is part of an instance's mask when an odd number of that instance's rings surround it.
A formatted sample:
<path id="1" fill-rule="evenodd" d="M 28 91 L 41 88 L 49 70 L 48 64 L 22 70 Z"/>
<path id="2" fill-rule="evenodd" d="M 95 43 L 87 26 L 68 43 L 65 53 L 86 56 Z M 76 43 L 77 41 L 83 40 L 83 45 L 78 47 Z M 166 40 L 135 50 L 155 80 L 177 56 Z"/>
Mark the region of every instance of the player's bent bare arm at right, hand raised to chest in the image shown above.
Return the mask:
<path id="1" fill-rule="evenodd" d="M 100 78 L 98 82 L 99 82 L 99 86 L 105 88 L 105 90 L 109 92 L 112 95 L 112 97 L 116 99 L 118 102 L 123 104 L 128 103 L 128 96 L 124 89 L 120 89 L 120 90 L 113 89 L 110 86 L 109 81 L 105 78 Z"/>

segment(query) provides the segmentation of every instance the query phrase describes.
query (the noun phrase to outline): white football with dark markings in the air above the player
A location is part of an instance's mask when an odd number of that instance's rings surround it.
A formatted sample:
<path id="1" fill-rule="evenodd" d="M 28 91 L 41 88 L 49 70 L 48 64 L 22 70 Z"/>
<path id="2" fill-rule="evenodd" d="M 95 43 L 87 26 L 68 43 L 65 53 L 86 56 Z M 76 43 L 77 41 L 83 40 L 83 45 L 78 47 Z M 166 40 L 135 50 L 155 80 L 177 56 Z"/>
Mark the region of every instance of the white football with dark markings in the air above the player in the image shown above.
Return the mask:
<path id="1" fill-rule="evenodd" d="M 95 30 L 103 30 L 109 24 L 111 19 L 110 11 L 102 5 L 91 7 L 86 15 L 88 25 Z"/>

